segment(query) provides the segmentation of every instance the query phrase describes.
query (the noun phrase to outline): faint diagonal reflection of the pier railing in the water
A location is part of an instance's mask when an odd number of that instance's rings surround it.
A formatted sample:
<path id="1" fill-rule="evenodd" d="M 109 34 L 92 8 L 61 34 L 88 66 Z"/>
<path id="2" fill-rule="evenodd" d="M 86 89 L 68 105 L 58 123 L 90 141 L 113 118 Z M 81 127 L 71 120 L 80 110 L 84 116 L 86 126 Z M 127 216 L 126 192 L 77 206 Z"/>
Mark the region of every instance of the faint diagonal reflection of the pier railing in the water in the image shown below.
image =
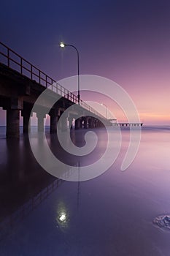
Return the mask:
<path id="1" fill-rule="evenodd" d="M 64 172 L 63 177 L 68 178 L 72 176 L 74 168 L 70 168 Z M 56 178 L 51 184 L 48 184 L 45 189 L 42 189 L 37 195 L 31 197 L 26 203 L 23 203 L 16 211 L 6 217 L 0 223 L 0 241 L 5 237 L 9 236 L 12 229 L 17 227 L 18 223 L 22 222 L 24 218 L 28 217 L 34 209 L 36 209 L 41 203 L 43 203 L 47 197 L 49 197 L 53 192 L 55 192 L 58 187 L 63 184 L 64 180 Z"/>

